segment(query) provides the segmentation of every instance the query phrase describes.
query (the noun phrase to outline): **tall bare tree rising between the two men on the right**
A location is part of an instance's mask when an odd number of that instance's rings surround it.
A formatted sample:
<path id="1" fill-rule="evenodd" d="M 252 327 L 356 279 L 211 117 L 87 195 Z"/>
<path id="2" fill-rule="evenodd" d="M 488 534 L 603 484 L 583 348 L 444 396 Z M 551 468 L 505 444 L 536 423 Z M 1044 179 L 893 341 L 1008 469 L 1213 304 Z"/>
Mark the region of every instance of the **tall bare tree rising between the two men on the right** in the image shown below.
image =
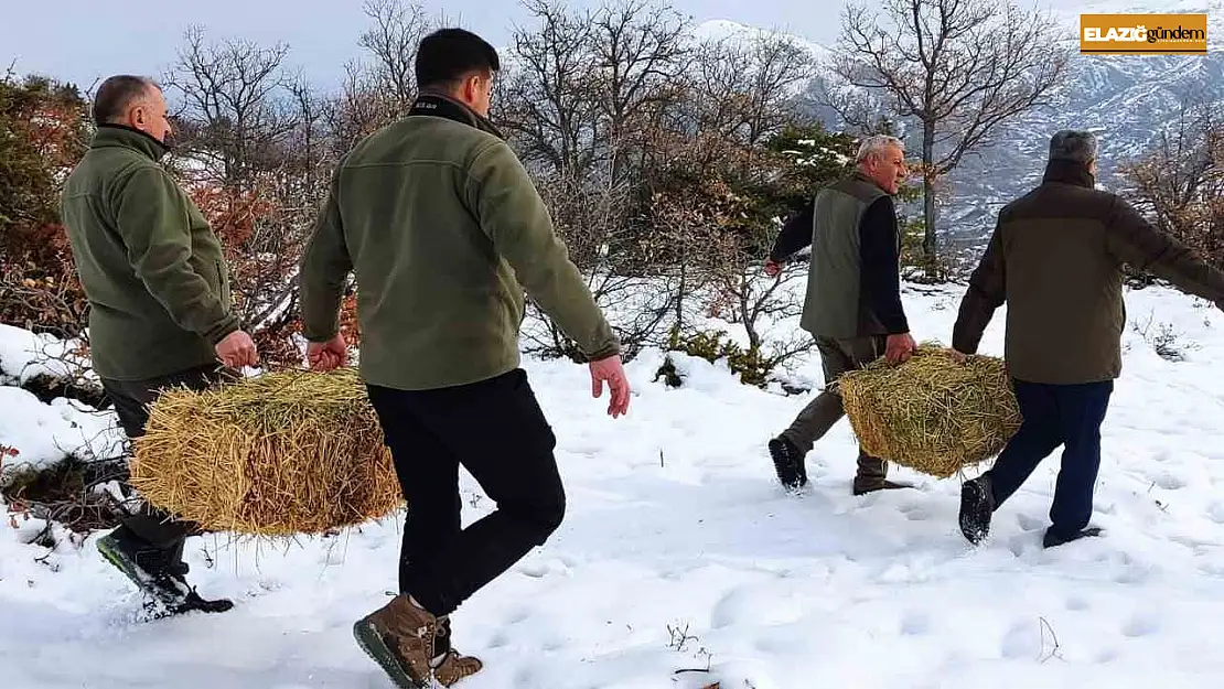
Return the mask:
<path id="1" fill-rule="evenodd" d="M 834 60 L 840 89 L 886 94 L 922 128 L 928 258 L 936 255 L 935 181 L 1011 117 L 1049 104 L 1069 53 L 1048 16 L 999 0 L 884 0 L 881 11 L 847 7 Z M 837 108 L 845 98 L 831 98 Z M 862 111 L 842 108 L 853 125 Z M 878 124 L 878 122 L 876 122 Z"/>

